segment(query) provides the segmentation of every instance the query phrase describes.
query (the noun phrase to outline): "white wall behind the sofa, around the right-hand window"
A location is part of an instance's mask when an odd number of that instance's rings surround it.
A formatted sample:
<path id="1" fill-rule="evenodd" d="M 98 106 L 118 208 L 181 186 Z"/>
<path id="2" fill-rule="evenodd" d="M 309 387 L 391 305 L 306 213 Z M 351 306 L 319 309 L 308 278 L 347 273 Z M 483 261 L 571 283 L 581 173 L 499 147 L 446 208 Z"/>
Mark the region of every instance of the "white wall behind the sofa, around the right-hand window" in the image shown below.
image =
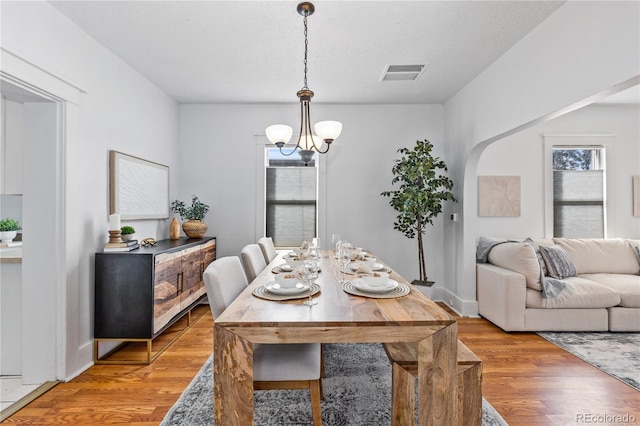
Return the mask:
<path id="1" fill-rule="evenodd" d="M 640 107 L 607 104 L 534 126 L 493 143 L 482 153 L 478 175 L 521 176 L 522 204 L 520 217 L 478 217 L 476 237 L 545 237 L 543 134 L 607 133 L 614 135 L 606 146 L 607 237 L 640 238 L 640 218 L 633 216 L 631 204 L 631 177 L 640 175 Z"/>

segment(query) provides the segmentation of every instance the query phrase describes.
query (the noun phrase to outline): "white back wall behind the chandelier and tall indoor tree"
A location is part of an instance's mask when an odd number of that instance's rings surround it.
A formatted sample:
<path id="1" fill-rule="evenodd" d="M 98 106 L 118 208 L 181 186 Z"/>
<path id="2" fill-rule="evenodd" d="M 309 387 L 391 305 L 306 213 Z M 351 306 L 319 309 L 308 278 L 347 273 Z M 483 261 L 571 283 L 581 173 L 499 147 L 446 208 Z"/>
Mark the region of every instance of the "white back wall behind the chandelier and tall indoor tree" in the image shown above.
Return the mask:
<path id="1" fill-rule="evenodd" d="M 408 279 L 418 277 L 417 240 L 393 229 L 395 211 L 380 196 L 391 187 L 397 149 L 429 139 L 435 155 L 443 156 L 442 106 L 312 104 L 314 121 L 343 123 L 342 135 L 326 154 L 326 233 L 340 233 L 357 246 L 373 250 Z M 299 124 L 299 106 L 181 105 L 180 199 L 198 195 L 211 205 L 206 221 L 218 238 L 217 254 L 239 255 L 256 241 L 256 144 L 264 129 L 275 123 Z M 439 218 L 440 219 L 440 218 Z M 321 219 L 322 220 L 322 219 Z M 426 240 L 427 273 L 442 284 L 442 227 L 433 227 Z"/>

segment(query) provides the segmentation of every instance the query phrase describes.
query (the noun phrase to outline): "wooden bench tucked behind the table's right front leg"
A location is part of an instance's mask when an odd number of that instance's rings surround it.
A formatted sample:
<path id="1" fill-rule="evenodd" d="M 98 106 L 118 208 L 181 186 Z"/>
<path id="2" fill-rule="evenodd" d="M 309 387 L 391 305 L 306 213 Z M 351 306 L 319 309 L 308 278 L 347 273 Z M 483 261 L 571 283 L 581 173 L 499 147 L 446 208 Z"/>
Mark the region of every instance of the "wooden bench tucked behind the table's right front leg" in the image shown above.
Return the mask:
<path id="1" fill-rule="evenodd" d="M 415 413 L 415 377 L 418 346 L 385 343 L 392 367 L 391 424 L 412 425 Z M 458 425 L 482 425 L 482 361 L 458 340 Z"/>

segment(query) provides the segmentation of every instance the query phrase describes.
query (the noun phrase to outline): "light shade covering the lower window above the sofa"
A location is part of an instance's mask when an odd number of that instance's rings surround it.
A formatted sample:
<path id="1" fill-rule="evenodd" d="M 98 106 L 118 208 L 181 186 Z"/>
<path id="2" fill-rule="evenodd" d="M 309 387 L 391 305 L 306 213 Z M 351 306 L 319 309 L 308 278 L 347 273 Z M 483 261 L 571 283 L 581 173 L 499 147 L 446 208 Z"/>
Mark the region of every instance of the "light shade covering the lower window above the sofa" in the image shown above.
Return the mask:
<path id="1" fill-rule="evenodd" d="M 604 170 L 553 171 L 553 235 L 604 238 Z"/>

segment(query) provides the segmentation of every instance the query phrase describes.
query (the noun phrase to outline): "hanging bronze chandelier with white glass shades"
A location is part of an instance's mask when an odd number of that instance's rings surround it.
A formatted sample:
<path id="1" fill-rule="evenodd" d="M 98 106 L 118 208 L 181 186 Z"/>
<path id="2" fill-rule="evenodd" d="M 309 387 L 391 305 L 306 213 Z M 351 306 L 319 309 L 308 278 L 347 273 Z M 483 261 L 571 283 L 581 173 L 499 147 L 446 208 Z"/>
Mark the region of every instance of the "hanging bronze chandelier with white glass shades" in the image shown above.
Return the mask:
<path id="1" fill-rule="evenodd" d="M 300 133 L 298 142 L 291 152 L 286 153 L 282 150 L 284 145 L 291 140 L 293 129 L 286 124 L 274 124 L 267 127 L 265 133 L 271 143 L 274 143 L 283 155 L 291 155 L 298 151 L 304 165 L 308 165 L 313 158 L 314 151 L 320 154 L 326 154 L 331 147 L 331 143 L 340 136 L 342 132 L 342 123 L 339 121 L 321 121 L 313 126 L 316 134 L 311 132 L 311 113 L 309 106 L 313 92 L 307 86 L 307 53 L 309 42 L 307 40 L 307 17 L 313 15 L 315 7 L 312 3 L 300 3 L 297 7 L 298 13 L 304 17 L 304 86 L 298 90 L 298 98 L 300 99 Z M 323 145 L 325 148 L 323 149 Z"/>

